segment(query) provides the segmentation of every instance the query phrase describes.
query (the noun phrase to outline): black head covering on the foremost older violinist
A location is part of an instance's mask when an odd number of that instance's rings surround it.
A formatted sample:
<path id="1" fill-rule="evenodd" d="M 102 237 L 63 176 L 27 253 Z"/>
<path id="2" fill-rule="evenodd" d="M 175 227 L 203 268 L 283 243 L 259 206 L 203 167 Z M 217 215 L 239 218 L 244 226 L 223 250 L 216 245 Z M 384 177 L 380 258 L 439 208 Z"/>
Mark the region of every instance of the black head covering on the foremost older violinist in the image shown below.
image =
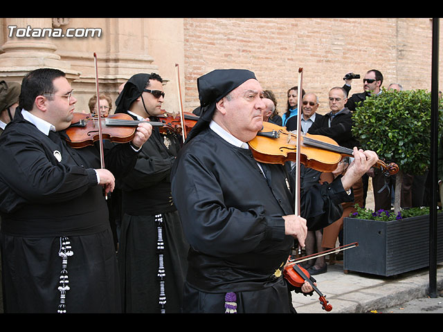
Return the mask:
<path id="1" fill-rule="evenodd" d="M 252 71 L 246 69 L 216 69 L 197 79 L 199 90 L 200 118 L 192 127 L 186 142 L 189 142 L 197 134 L 208 127 L 213 119 L 215 104 L 224 98 L 230 91 L 242 85 L 250 79 L 257 80 Z"/>

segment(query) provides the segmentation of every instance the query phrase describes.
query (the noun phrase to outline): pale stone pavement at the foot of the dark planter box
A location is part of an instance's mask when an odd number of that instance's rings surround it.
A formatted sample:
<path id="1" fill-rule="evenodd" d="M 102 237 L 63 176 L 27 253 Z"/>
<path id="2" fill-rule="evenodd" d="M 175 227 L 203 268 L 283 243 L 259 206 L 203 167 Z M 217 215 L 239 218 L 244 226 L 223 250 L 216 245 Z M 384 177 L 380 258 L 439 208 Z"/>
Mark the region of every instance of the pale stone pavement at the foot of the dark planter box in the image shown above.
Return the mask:
<path id="1" fill-rule="evenodd" d="M 365 273 L 344 273 L 342 264 L 334 264 L 328 266 L 327 273 L 314 277 L 319 291 L 332 305 L 329 313 L 383 312 L 382 309 L 400 308 L 401 304 L 428 295 L 428 268 L 395 277 L 379 277 Z M 442 264 L 437 266 L 437 288 L 439 291 L 443 289 Z M 294 293 L 292 299 L 298 313 L 327 313 L 322 309 L 316 293 L 311 297 Z M 441 301 L 440 297 L 437 302 Z"/>

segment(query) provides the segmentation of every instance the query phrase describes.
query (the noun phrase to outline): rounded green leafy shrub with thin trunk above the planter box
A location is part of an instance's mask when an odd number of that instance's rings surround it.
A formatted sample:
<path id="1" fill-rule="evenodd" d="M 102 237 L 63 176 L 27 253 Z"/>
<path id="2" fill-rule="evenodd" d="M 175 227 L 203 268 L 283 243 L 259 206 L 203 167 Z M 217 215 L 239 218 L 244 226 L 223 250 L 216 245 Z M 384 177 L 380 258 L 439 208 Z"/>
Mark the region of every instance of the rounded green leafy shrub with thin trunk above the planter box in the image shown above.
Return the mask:
<path id="1" fill-rule="evenodd" d="M 442 122 L 442 111 L 439 116 Z M 395 212 L 399 212 L 403 174 L 422 175 L 431 163 L 431 93 L 383 88 L 382 93 L 356 107 L 352 120 L 352 133 L 363 149 L 375 151 L 379 158 L 399 166 L 394 204 Z"/>

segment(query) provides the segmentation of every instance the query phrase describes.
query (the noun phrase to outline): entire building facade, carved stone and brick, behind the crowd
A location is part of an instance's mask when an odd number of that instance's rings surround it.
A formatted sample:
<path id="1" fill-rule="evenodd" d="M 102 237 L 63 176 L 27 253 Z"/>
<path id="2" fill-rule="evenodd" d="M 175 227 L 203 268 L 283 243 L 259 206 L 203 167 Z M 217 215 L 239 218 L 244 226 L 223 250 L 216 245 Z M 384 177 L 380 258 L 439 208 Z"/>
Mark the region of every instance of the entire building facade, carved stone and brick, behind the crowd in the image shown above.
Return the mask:
<path id="1" fill-rule="evenodd" d="M 100 29 L 100 37 L 87 28 Z M 56 35 L 60 30 L 74 37 Z M 1 18 L 0 77 L 20 81 L 34 68 L 60 68 L 72 80 L 76 110 L 88 111 L 96 53 L 100 92 L 115 100 L 131 75 L 157 72 L 165 79 L 164 108 L 175 113 L 181 102 L 185 111 L 199 105 L 200 75 L 247 68 L 275 93 L 282 113 L 301 67 L 305 91 L 318 95 L 318 111 L 326 113 L 327 92 L 348 72 L 363 77 L 375 68 L 383 86 L 430 90 L 431 40 L 428 18 Z M 351 92 L 361 91 L 355 80 Z"/>

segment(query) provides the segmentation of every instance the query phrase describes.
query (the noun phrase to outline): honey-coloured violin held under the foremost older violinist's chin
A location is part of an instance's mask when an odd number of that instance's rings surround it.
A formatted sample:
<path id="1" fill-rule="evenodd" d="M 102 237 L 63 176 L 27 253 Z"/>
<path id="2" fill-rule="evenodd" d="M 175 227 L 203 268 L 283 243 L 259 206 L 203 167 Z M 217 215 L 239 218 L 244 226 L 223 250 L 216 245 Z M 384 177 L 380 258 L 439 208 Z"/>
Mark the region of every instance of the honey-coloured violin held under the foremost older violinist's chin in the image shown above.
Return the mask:
<path id="1" fill-rule="evenodd" d="M 302 133 L 300 135 L 300 163 L 305 167 L 320 172 L 332 172 L 345 156 L 352 157 L 352 149 L 341 147 L 327 136 Z M 284 164 L 296 160 L 296 133 L 287 131 L 278 124 L 263 122 L 263 129 L 253 140 L 248 142 L 255 160 L 262 163 Z M 386 164 L 377 160 L 374 167 L 379 167 L 389 175 L 397 174 L 399 167 L 395 163 Z"/>

